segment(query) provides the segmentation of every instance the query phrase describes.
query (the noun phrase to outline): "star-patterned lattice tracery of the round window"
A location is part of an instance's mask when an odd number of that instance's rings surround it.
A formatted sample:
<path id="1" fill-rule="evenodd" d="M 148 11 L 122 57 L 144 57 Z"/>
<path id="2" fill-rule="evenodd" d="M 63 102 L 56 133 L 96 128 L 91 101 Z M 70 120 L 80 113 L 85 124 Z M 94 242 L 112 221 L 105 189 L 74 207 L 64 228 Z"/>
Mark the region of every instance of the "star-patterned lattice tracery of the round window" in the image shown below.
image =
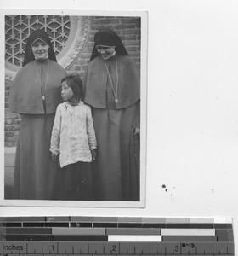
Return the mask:
<path id="1" fill-rule="evenodd" d="M 52 41 L 55 55 L 65 47 L 71 29 L 69 16 L 59 15 L 6 15 L 5 60 L 22 66 L 26 40 L 37 28 L 44 29 Z"/>

